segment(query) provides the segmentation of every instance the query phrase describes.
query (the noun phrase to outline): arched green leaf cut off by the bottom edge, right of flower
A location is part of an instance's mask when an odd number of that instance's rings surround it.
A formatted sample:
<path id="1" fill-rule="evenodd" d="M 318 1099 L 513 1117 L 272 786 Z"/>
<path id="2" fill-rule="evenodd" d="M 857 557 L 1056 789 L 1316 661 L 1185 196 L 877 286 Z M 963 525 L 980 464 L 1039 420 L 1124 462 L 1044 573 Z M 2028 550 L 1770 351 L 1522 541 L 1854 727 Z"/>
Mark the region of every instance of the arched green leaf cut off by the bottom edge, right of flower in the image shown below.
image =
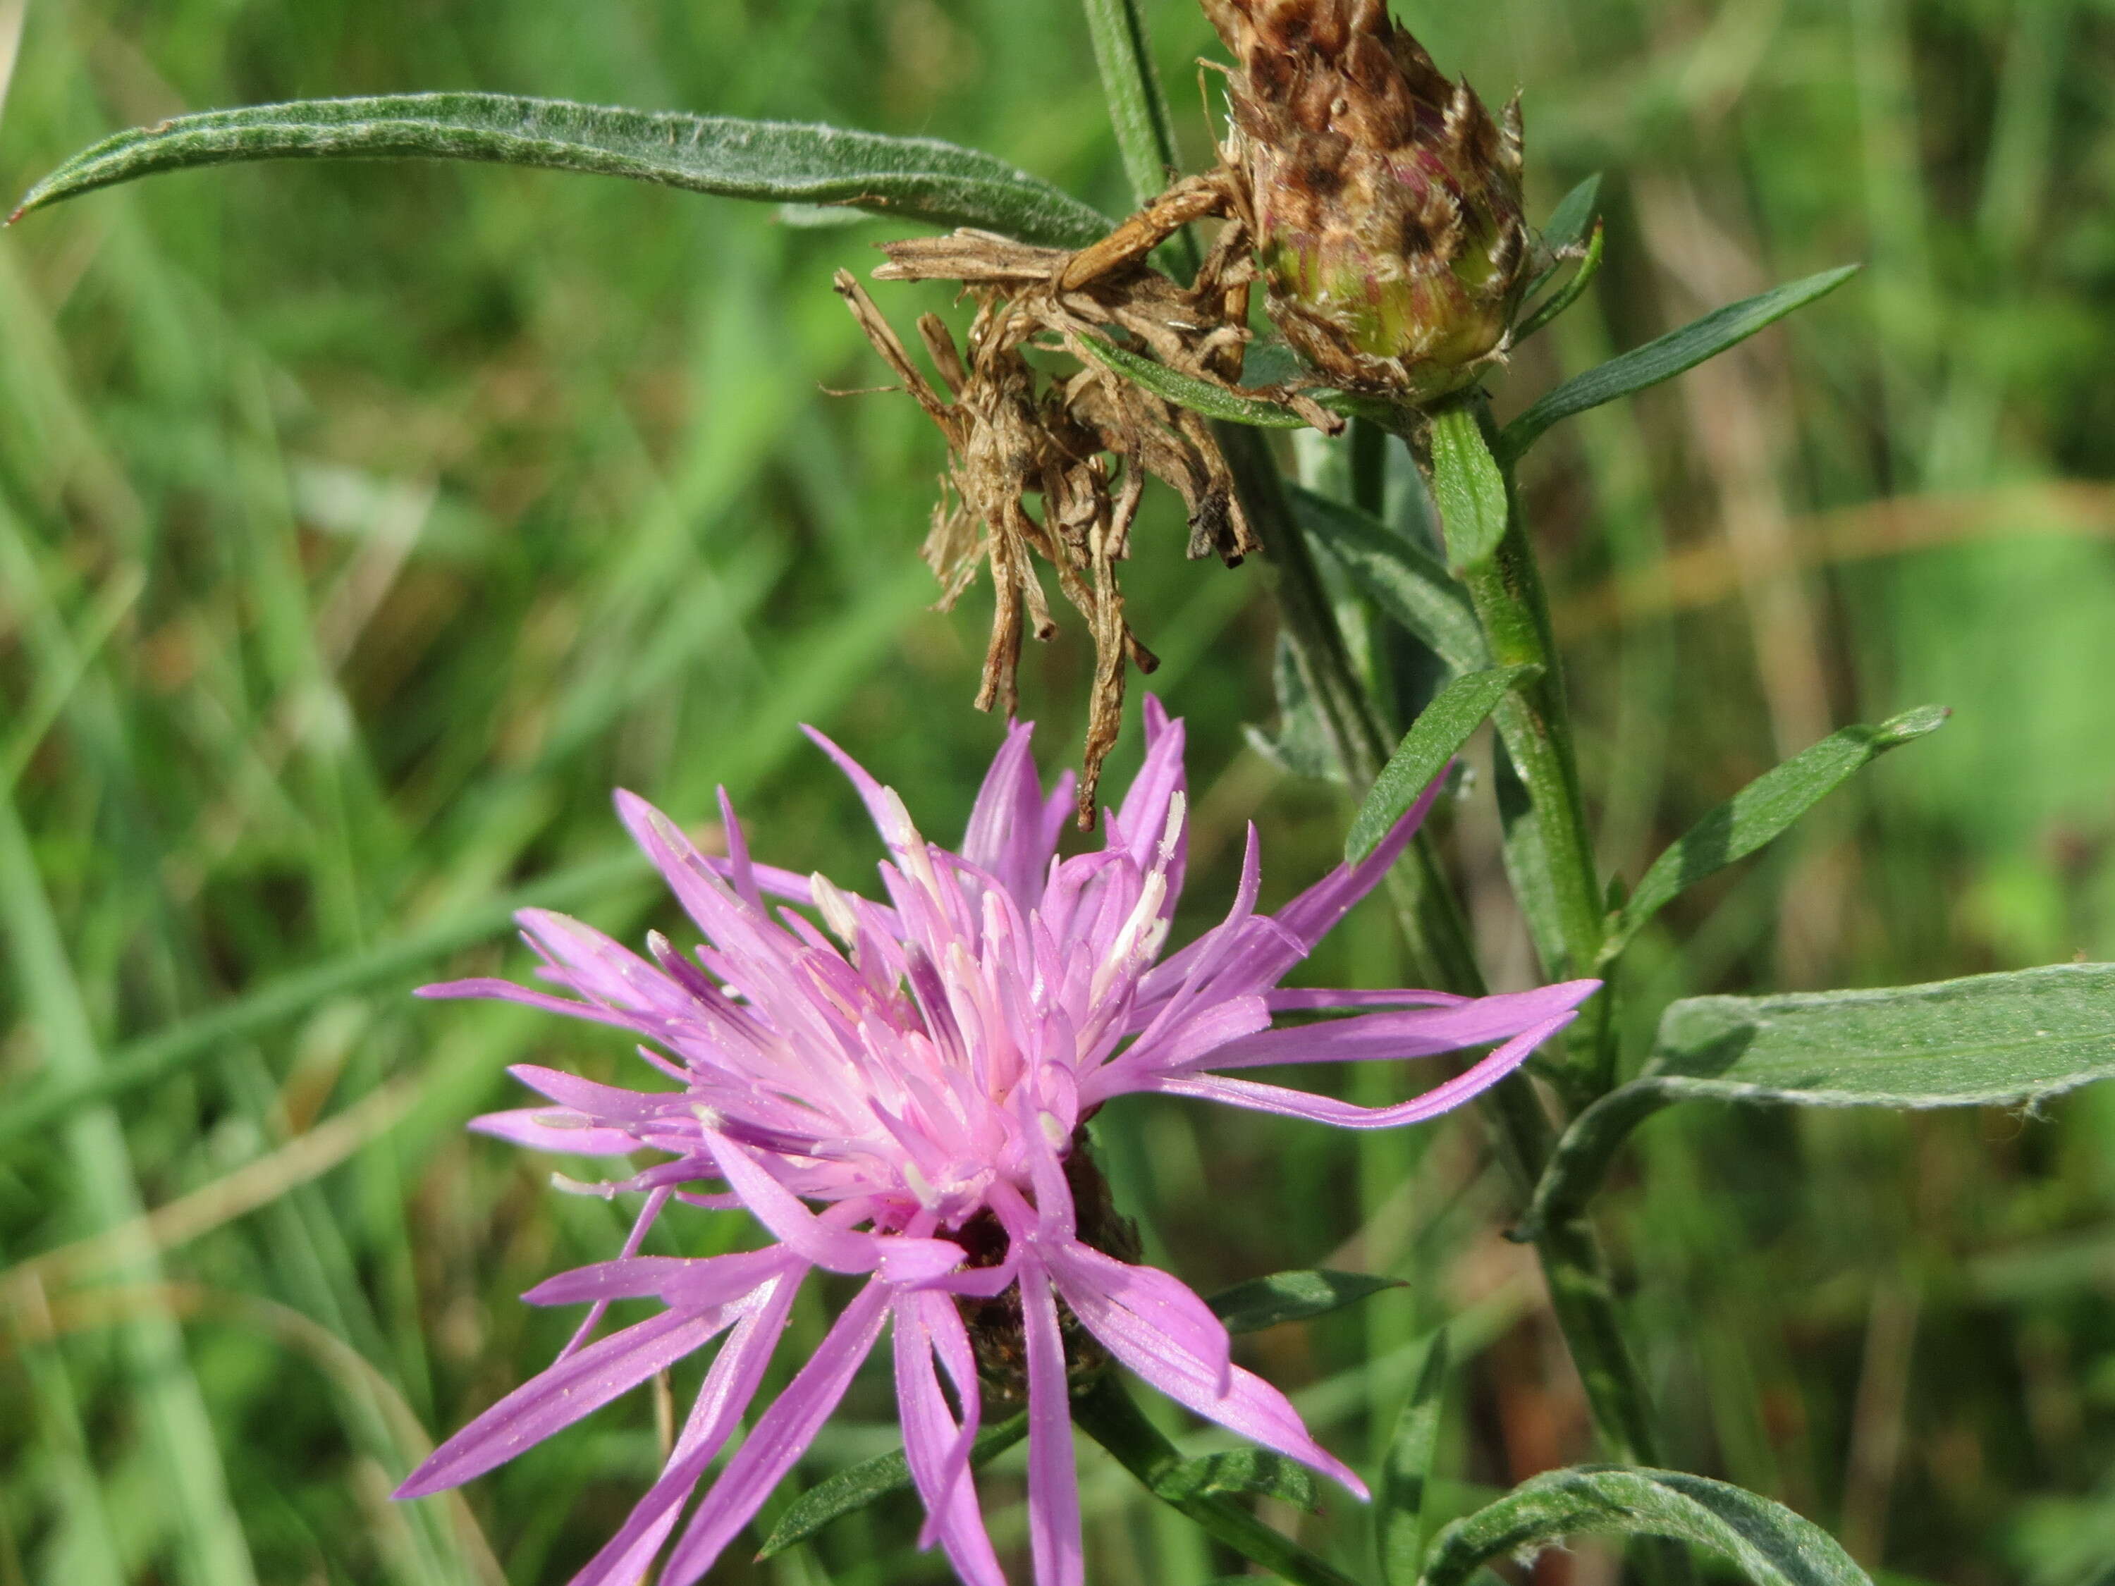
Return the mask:
<path id="1" fill-rule="evenodd" d="M 1755 1586 L 1872 1586 L 1827 1531 L 1783 1504 L 1705 1476 L 1622 1465 L 1552 1470 L 1455 1520 L 1432 1548 L 1421 1586 L 1459 1586 L 1491 1559 L 1582 1533 L 1692 1542 Z"/>

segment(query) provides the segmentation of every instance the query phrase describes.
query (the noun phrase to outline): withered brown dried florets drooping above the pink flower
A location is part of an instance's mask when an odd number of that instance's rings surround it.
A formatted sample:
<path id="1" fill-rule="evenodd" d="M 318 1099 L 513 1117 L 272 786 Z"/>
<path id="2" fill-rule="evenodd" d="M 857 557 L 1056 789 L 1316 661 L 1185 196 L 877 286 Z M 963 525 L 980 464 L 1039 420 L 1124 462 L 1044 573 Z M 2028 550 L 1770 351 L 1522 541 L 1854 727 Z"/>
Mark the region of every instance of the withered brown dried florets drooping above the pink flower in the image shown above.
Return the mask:
<path id="1" fill-rule="evenodd" d="M 967 353 L 926 315 L 918 334 L 941 389 L 918 370 L 865 290 L 838 275 L 873 347 L 948 438 L 948 474 L 924 558 L 941 582 L 941 609 L 992 569 L 992 641 L 977 706 L 1015 713 L 1024 626 L 1055 632 L 1036 558 L 1093 634 L 1096 679 L 1087 721 L 1081 827 L 1093 823 L 1102 759 L 1123 717 L 1125 660 L 1159 662 L 1123 615 L 1117 563 L 1129 554 L 1144 480 L 1172 484 L 1189 510 L 1189 554 L 1229 567 L 1261 550 L 1210 425 L 1121 379 L 1083 338 L 1121 338 L 1193 379 L 1231 389 L 1248 343 L 1252 264 L 1246 233 L 1227 228 L 1189 288 L 1146 266 L 1153 247 L 1189 220 L 1227 207 L 1222 178 L 1195 178 L 1100 243 L 1064 252 L 979 230 L 886 243 L 884 281 L 956 281 L 977 302 Z M 1072 374 L 1045 374 L 1026 349 L 1070 351 Z M 1320 421 L 1332 423 L 1316 410 Z M 1028 499 L 1041 497 L 1041 512 Z"/>

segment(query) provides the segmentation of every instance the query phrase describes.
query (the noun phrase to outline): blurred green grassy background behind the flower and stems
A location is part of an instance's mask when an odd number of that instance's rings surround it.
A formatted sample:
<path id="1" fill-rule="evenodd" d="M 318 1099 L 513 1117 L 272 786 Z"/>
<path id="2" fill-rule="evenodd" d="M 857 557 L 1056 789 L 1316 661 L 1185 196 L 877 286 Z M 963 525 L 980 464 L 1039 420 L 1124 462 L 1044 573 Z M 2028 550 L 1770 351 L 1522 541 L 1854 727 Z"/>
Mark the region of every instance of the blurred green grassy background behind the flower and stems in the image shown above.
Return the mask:
<path id="1" fill-rule="evenodd" d="M 1146 11 L 1203 163 L 1208 27 Z M 1870 264 L 1531 467 L 1612 871 L 1836 725 L 1956 713 L 1665 916 L 1633 954 L 1639 1034 L 1696 990 L 2115 958 L 2115 4 L 1398 11 L 1487 95 L 1525 87 L 1538 209 L 1607 171 L 1607 269 L 1502 410 Z M 0 184 L 180 110 L 444 87 L 933 133 L 1125 207 L 1064 0 L 0 0 Z M 577 176 L 273 165 L 0 237 L 0 1586 L 556 1582 L 647 1484 L 635 1396 L 463 1499 L 385 1501 L 565 1336 L 514 1294 L 622 1237 L 622 1207 L 461 1131 L 514 1104 L 505 1064 L 613 1074 L 622 1043 L 406 992 L 520 973 L 522 888 L 624 937 L 675 924 L 611 785 L 702 823 L 725 782 L 761 856 L 863 882 L 873 837 L 799 721 L 958 831 L 998 723 L 969 708 L 981 592 L 924 609 L 939 442 L 901 398 L 825 393 L 884 379 L 827 290 L 884 235 Z M 1191 721 L 1189 930 L 1244 820 L 1271 903 L 1330 863 L 1345 806 L 1242 734 L 1273 708 L 1267 569 L 1180 541 L 1157 495 L 1127 586 Z M 1087 662 L 1077 622 L 1030 658 L 1051 770 Z M 1449 852 L 1521 983 L 1493 825 L 1472 795 Z M 1381 914 L 1311 966 L 1398 973 Z M 1337 1449 L 1373 1453 L 1453 1317 L 1442 1499 L 1590 1457 L 1474 1121 L 1347 1142 L 1129 1104 L 1098 1127 L 1197 1288 L 1413 1279 L 1250 1341 Z M 1603 1210 L 1675 1463 L 1882 1578 L 2115 1580 L 2115 1091 L 2045 1119 L 1677 1112 Z M 884 1383 L 857 1389 L 804 1478 L 888 1446 L 886 1417 Z M 1096 1582 L 1231 1569 L 1083 1457 Z M 986 1482 L 1009 1546 L 1017 1491 Z M 715 1580 L 943 1575 L 912 1535 L 880 1510 Z M 1303 1535 L 1368 1556 L 1341 1497 Z M 1582 1550 L 1535 1580 L 1612 1571 Z"/>

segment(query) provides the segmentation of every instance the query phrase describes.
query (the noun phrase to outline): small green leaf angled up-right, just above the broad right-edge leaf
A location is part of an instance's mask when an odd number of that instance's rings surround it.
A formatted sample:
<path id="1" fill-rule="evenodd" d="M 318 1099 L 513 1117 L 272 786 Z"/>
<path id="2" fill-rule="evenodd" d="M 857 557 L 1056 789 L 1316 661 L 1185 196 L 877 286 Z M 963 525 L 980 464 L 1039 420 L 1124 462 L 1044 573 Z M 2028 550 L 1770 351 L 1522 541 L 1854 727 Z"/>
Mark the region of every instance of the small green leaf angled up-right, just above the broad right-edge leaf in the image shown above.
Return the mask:
<path id="1" fill-rule="evenodd" d="M 1677 895 L 1739 859 L 1747 859 L 1783 833 L 1794 820 L 1842 787 L 1853 772 L 1889 749 L 1923 738 L 1946 725 L 1950 711 L 1927 704 L 1904 711 L 1878 727 L 1844 727 L 1734 793 L 1698 820 L 1637 882 L 1631 901 L 1616 916 L 1601 962 L 1612 960 L 1637 928 Z"/>

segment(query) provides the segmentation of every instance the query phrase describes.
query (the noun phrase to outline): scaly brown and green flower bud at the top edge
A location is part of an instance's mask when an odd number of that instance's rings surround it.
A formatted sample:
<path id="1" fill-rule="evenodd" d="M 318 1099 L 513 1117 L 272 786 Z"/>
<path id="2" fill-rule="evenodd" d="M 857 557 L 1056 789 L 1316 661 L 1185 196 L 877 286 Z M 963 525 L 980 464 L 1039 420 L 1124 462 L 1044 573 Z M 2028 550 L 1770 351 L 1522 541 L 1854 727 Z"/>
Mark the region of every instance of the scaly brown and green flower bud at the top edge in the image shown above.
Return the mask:
<path id="1" fill-rule="evenodd" d="M 1519 99 L 1493 118 L 1385 0 L 1203 0 L 1239 61 L 1271 319 L 1332 385 L 1430 402 L 1504 357 L 1529 279 Z"/>

